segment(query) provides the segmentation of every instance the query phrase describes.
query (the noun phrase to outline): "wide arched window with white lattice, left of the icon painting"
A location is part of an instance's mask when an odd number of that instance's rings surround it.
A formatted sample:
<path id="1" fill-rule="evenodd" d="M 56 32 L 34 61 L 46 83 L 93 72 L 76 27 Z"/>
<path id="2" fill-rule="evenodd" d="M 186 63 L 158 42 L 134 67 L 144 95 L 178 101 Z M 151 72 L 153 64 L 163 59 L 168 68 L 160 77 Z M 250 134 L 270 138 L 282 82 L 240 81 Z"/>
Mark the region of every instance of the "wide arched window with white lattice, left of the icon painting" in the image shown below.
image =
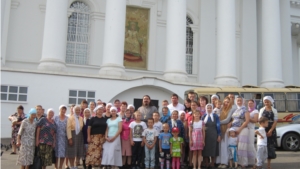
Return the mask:
<path id="1" fill-rule="evenodd" d="M 85 65 L 88 63 L 90 8 L 83 2 L 74 2 L 70 8 L 66 63 Z"/>

